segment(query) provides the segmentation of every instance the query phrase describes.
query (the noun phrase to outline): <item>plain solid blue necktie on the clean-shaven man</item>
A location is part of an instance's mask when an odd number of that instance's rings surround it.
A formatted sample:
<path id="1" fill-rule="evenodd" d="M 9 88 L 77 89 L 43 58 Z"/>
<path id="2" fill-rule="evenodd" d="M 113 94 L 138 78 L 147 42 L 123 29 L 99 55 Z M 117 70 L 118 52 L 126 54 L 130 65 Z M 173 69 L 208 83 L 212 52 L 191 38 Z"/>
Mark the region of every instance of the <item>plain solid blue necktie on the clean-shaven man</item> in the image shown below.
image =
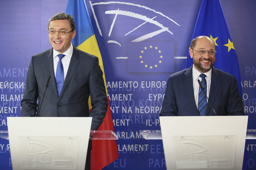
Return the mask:
<path id="1" fill-rule="evenodd" d="M 55 80 L 57 84 L 57 90 L 58 90 L 58 95 L 60 96 L 60 92 L 64 83 L 64 70 L 63 70 L 63 65 L 61 62 L 61 59 L 64 57 L 64 54 L 58 54 L 59 57 L 59 62 L 57 64 L 57 70 L 56 70 L 56 75 L 55 75 Z"/>

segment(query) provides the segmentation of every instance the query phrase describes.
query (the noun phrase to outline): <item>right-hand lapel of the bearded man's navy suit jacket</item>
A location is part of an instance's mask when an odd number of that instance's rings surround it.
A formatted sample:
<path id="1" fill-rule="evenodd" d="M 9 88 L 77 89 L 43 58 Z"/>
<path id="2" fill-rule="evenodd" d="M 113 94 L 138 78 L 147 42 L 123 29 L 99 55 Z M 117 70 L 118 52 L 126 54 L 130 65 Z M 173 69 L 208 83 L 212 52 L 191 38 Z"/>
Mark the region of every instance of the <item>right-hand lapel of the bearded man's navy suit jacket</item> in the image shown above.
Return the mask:
<path id="1" fill-rule="evenodd" d="M 211 102 L 212 105 L 216 99 L 216 96 L 218 94 L 221 81 L 222 81 L 222 77 L 219 76 L 219 74 L 220 72 L 216 68 L 212 67 L 211 86 L 210 86 L 210 93 L 209 93 L 209 101 Z M 207 102 L 205 115 L 208 115 L 210 110 L 211 110 L 211 105 L 209 102 Z"/>

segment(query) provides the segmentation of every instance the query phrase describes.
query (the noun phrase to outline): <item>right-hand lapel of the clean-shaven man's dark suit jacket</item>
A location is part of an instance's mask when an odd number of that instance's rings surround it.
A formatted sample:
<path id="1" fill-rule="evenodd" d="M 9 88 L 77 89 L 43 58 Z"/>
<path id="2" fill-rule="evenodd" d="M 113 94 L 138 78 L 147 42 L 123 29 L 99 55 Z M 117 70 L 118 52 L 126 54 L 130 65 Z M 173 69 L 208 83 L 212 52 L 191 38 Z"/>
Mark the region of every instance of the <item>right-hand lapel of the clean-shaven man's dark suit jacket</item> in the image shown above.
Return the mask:
<path id="1" fill-rule="evenodd" d="M 80 56 L 79 56 L 78 49 L 73 46 L 73 53 L 72 53 L 71 60 L 70 60 L 69 66 L 68 66 L 67 75 L 66 75 L 64 84 L 62 86 L 61 92 L 60 92 L 59 100 L 60 100 L 61 96 L 63 95 L 63 93 L 65 92 L 68 84 L 70 83 L 70 80 L 78 66 L 79 58 L 80 58 Z"/>

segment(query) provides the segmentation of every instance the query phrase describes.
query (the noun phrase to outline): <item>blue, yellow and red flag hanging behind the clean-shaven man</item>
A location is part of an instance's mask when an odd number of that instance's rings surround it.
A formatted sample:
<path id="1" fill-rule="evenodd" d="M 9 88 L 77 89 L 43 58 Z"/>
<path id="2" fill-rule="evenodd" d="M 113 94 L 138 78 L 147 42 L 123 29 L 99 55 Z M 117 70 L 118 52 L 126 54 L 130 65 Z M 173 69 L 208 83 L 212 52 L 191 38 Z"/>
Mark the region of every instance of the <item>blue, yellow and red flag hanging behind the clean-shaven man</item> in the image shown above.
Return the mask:
<path id="1" fill-rule="evenodd" d="M 69 0 L 66 13 L 73 16 L 76 28 L 76 37 L 72 40 L 72 44 L 78 49 L 95 55 L 99 58 L 99 65 L 103 72 L 103 79 L 106 87 L 108 98 L 108 91 L 106 86 L 105 73 L 102 63 L 102 57 L 96 41 L 90 17 L 86 8 L 84 0 Z M 109 102 L 109 99 L 108 99 Z M 89 101 L 91 109 L 91 103 Z M 99 130 L 112 130 L 114 126 L 112 122 L 112 115 L 110 105 L 108 105 L 107 114 Z M 118 158 L 118 150 L 116 140 L 93 140 L 91 151 L 91 169 L 99 170 L 104 168 Z"/>

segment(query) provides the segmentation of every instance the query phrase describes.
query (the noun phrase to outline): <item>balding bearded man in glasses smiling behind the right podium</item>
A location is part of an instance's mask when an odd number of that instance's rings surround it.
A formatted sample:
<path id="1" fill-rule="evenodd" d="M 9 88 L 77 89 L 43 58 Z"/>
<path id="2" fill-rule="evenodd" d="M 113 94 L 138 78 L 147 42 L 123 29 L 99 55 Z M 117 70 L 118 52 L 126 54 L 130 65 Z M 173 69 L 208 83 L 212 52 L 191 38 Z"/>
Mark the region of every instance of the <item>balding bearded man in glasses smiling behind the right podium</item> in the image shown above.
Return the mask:
<path id="1" fill-rule="evenodd" d="M 215 43 L 209 37 L 192 40 L 189 54 L 194 64 L 169 76 L 160 116 L 245 115 L 236 78 L 213 67 L 215 53 Z"/>

